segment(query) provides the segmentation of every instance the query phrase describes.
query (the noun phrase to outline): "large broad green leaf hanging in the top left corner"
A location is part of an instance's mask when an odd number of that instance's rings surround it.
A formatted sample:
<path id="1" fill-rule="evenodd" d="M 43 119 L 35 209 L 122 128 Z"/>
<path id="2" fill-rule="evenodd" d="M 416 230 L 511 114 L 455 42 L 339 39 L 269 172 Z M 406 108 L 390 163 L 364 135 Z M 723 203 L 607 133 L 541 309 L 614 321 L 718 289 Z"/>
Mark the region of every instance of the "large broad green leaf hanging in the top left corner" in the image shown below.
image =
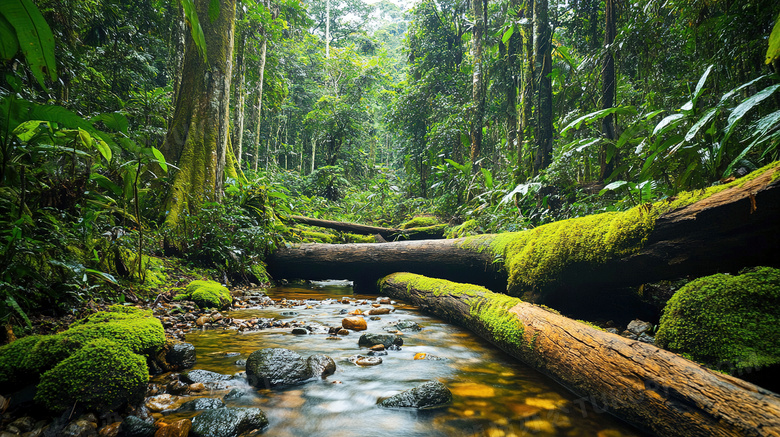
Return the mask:
<path id="1" fill-rule="evenodd" d="M 19 47 L 33 75 L 46 89 L 45 73 L 51 80 L 56 80 L 57 65 L 54 61 L 54 35 L 41 11 L 31 0 L 0 0 L 0 13 L 16 30 Z"/>

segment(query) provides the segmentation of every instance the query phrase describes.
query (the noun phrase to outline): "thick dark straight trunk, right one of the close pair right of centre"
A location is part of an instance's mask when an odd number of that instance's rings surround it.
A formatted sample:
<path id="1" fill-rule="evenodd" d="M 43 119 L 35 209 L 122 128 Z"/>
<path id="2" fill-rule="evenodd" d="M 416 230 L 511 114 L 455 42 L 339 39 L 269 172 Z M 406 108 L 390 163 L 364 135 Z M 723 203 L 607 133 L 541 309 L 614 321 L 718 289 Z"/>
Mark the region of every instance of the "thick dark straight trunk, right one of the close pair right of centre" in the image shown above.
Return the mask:
<path id="1" fill-rule="evenodd" d="M 550 22 L 547 16 L 548 1 L 535 0 L 534 4 L 534 64 L 539 83 L 536 117 L 536 154 L 534 173 L 547 168 L 552 161 L 552 45 Z"/>

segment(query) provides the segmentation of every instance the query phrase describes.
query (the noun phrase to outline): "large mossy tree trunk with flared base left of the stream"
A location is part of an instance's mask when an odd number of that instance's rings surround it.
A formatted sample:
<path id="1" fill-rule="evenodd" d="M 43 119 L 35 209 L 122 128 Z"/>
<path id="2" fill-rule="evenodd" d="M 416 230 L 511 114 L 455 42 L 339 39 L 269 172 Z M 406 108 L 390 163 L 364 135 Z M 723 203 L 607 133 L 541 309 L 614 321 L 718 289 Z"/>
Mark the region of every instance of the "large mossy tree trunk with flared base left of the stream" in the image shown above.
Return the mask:
<path id="1" fill-rule="evenodd" d="M 195 2 L 208 63 L 188 34 L 181 87 L 163 146 L 166 160 L 179 168 L 166 202 L 165 223 L 171 227 L 179 223 L 182 213 L 222 197 L 236 2 L 220 0 L 219 16 L 213 21 L 209 4 L 210 0 Z"/>

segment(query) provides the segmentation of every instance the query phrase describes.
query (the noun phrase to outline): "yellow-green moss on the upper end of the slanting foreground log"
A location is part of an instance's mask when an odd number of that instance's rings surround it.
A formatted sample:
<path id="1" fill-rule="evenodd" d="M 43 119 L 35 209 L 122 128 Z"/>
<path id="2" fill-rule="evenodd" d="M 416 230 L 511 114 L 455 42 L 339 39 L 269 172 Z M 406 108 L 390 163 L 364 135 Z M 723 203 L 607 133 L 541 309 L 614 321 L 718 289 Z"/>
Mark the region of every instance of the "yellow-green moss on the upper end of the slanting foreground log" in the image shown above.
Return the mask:
<path id="1" fill-rule="evenodd" d="M 516 297 L 493 293 L 478 285 L 429 278 L 414 273 L 388 275 L 379 281 L 380 289 L 387 281 L 406 284 L 407 290 L 427 290 L 434 296 L 447 295 L 462 299 L 468 304 L 470 315 L 481 325 L 475 328 L 487 330 L 492 338 L 509 344 L 521 344 L 523 341 L 523 326 L 509 313 L 510 308 L 521 302 Z"/>

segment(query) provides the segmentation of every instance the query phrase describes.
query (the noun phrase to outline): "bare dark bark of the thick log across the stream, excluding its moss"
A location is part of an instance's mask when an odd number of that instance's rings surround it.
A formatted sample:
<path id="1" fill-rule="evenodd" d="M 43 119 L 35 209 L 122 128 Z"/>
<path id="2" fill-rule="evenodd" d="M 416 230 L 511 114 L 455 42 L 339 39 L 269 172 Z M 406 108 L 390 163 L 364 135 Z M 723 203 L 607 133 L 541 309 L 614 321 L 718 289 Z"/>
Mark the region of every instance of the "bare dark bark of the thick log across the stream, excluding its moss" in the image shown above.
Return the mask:
<path id="1" fill-rule="evenodd" d="M 555 307 L 556 301 L 587 301 L 592 292 L 604 288 L 736 272 L 755 265 L 780 265 L 778 174 L 779 166 L 764 170 L 752 180 L 662 214 L 640 248 L 603 262 L 562 262 L 555 266 L 553 277 L 538 278 L 538 284 L 508 284 L 505 254 L 491 253 L 489 244 L 496 238 L 529 235 L 529 248 L 550 244 L 545 241 L 545 229 L 555 229 L 549 227 L 556 225 L 561 230 L 561 226 L 572 225 L 572 232 L 579 232 L 582 228 L 574 224 L 581 223 L 575 221 L 580 219 L 513 234 L 450 240 L 284 247 L 269 257 L 268 272 L 276 279 L 354 279 L 370 284 L 381 276 L 408 271 L 479 284 Z M 599 216 L 594 217 L 591 220 L 598 224 Z M 616 230 L 606 227 L 598 232 L 604 235 L 594 239 L 604 240 Z M 533 240 L 535 236 L 537 240 Z"/>

